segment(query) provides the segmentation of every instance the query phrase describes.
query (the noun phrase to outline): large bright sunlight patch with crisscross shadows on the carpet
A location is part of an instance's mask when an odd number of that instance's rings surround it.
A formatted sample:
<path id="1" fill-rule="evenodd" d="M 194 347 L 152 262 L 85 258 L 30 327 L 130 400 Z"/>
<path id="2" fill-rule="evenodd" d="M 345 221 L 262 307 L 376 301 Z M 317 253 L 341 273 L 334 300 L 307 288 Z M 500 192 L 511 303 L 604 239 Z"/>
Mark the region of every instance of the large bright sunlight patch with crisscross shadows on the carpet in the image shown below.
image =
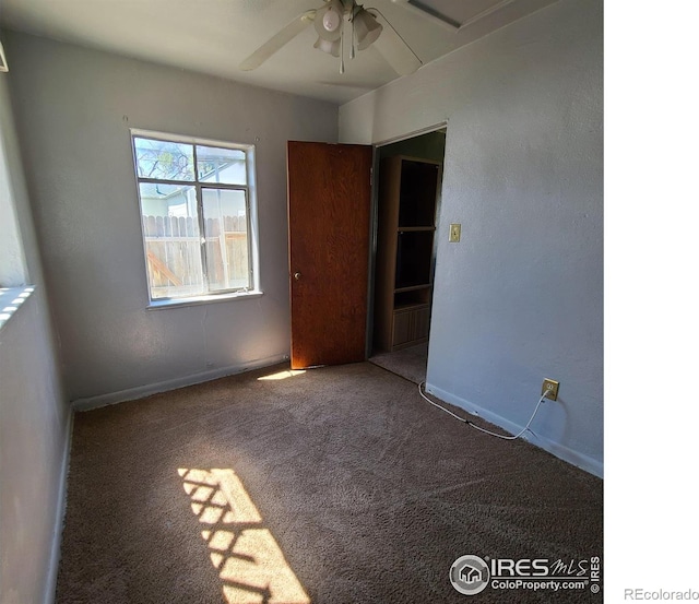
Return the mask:
<path id="1" fill-rule="evenodd" d="M 177 472 L 192 512 L 205 526 L 201 536 L 228 604 L 310 604 L 233 470 L 180 467 Z"/>

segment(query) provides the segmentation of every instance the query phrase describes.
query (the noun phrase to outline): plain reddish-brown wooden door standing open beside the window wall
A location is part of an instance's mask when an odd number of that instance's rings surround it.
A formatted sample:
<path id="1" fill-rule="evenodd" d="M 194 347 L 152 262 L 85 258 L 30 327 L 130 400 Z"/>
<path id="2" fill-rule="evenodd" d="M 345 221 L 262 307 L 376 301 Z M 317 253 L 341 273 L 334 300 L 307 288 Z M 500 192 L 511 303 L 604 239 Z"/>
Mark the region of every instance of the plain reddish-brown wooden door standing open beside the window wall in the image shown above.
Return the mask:
<path id="1" fill-rule="evenodd" d="M 287 145 L 292 368 L 366 358 L 372 152 Z"/>

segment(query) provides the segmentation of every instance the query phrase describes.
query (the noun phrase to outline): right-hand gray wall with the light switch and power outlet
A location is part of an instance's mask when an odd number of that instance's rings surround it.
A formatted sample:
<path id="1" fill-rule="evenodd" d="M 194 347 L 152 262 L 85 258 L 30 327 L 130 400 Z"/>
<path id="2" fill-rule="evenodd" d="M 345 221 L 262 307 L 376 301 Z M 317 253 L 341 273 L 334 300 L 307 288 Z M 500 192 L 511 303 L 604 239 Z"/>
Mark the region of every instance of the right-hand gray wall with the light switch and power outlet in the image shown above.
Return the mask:
<path id="1" fill-rule="evenodd" d="M 340 108 L 341 142 L 448 121 L 427 388 L 603 467 L 603 3 L 560 0 Z M 447 244 L 449 223 L 462 224 Z"/>

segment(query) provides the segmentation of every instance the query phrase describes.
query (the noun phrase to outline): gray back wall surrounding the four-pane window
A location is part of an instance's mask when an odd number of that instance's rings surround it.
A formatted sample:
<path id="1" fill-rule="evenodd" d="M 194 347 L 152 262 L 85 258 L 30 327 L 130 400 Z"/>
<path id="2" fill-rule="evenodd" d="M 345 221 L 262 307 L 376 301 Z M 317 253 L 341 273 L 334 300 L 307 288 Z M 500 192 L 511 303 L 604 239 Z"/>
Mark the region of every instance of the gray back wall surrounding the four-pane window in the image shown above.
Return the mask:
<path id="1" fill-rule="evenodd" d="M 70 399 L 115 402 L 287 355 L 286 141 L 336 142 L 336 106 L 13 32 L 4 45 Z M 145 309 L 129 128 L 257 145 L 262 297 Z"/>

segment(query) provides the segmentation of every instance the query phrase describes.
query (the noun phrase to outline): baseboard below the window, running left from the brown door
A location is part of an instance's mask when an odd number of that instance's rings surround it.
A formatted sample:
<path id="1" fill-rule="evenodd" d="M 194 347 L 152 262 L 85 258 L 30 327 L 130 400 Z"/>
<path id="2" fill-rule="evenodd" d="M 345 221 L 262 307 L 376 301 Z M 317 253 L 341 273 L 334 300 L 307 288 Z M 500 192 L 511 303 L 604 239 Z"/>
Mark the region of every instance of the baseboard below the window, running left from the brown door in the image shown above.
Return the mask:
<path id="1" fill-rule="evenodd" d="M 218 378 L 225 378 L 227 376 L 235 376 L 236 374 L 242 374 L 245 371 L 252 371 L 253 369 L 260 369 L 262 367 L 269 367 L 288 360 L 288 355 L 280 354 L 270 356 L 266 358 L 259 358 L 245 363 L 242 365 L 235 365 L 229 367 L 218 367 L 210 371 L 203 371 L 201 374 L 192 374 L 181 378 L 175 378 L 171 380 L 159 381 L 156 383 L 147 383 L 144 386 L 138 386 L 135 388 L 129 388 L 126 390 L 119 390 L 117 392 L 109 392 L 107 394 L 98 394 L 97 396 L 87 396 L 84 399 L 76 399 L 72 402 L 73 411 L 90 411 L 102 406 L 112 405 L 115 403 L 122 403 L 125 401 L 133 401 L 135 399 L 143 399 L 151 394 L 157 394 L 158 392 L 167 392 L 168 390 L 176 390 L 186 386 L 193 386 L 196 383 L 202 383 Z"/>

